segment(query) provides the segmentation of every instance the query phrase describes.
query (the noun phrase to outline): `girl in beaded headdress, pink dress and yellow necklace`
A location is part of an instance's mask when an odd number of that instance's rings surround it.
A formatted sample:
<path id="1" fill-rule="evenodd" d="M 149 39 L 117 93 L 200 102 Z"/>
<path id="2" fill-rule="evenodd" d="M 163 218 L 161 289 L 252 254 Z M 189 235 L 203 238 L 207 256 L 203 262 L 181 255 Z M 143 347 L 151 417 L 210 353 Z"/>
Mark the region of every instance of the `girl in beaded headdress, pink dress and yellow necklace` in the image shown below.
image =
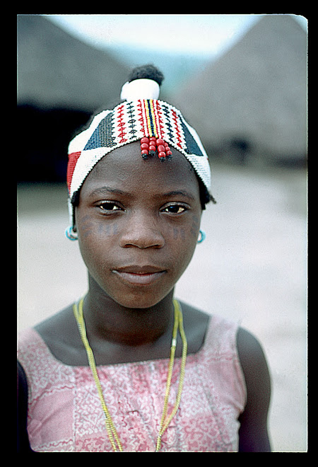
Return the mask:
<path id="1" fill-rule="evenodd" d="M 213 197 L 198 135 L 158 100 L 162 80 L 135 69 L 124 101 L 69 146 L 66 235 L 89 288 L 20 335 L 19 452 L 270 451 L 259 343 L 174 298 Z"/>

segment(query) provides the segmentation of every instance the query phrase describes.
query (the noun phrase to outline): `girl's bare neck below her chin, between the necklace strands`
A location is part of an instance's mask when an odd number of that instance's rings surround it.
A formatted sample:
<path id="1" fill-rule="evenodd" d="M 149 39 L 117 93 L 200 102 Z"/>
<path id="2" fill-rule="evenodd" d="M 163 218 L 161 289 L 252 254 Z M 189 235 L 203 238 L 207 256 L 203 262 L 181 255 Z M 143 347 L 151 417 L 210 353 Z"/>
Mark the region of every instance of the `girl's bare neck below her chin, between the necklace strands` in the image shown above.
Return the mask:
<path id="1" fill-rule="evenodd" d="M 165 334 L 171 335 L 173 289 L 151 308 L 127 309 L 107 296 L 92 277 L 89 286 L 83 304 L 88 340 L 140 346 L 151 345 Z"/>

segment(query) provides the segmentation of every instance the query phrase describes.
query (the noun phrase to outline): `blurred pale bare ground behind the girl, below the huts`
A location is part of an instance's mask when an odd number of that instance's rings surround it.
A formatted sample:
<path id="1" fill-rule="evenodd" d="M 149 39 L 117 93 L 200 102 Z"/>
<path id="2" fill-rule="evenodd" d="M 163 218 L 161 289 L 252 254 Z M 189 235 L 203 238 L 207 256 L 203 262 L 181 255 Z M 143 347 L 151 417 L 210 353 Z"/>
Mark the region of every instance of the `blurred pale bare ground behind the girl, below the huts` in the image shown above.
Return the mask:
<path id="1" fill-rule="evenodd" d="M 177 298 L 239 321 L 271 369 L 273 451 L 307 450 L 307 173 L 213 167 L 218 204 Z M 77 242 L 66 239 L 66 188 L 18 190 L 18 328 L 35 325 L 87 290 Z"/>

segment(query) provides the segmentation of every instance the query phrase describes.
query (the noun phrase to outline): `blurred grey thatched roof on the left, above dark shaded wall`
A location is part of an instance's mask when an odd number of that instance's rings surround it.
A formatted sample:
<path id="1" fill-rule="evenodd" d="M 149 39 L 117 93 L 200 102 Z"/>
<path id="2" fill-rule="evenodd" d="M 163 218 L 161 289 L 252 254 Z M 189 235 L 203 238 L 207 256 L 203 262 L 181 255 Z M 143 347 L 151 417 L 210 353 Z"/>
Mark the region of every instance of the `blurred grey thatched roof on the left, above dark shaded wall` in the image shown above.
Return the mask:
<path id="1" fill-rule="evenodd" d="M 93 111 L 114 105 L 129 70 L 45 16 L 18 16 L 18 103 Z"/>

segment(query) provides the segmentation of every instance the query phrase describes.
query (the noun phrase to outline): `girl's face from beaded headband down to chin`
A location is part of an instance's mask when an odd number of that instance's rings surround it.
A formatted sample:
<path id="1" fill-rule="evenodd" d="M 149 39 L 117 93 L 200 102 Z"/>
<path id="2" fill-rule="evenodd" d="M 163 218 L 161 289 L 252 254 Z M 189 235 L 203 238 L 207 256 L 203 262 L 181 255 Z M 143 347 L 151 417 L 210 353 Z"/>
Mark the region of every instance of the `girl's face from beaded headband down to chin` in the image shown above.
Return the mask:
<path id="1" fill-rule="evenodd" d="M 199 183 L 178 151 L 141 157 L 140 142 L 107 154 L 80 192 L 76 229 L 101 289 L 127 308 L 162 300 L 187 268 L 199 236 Z"/>

